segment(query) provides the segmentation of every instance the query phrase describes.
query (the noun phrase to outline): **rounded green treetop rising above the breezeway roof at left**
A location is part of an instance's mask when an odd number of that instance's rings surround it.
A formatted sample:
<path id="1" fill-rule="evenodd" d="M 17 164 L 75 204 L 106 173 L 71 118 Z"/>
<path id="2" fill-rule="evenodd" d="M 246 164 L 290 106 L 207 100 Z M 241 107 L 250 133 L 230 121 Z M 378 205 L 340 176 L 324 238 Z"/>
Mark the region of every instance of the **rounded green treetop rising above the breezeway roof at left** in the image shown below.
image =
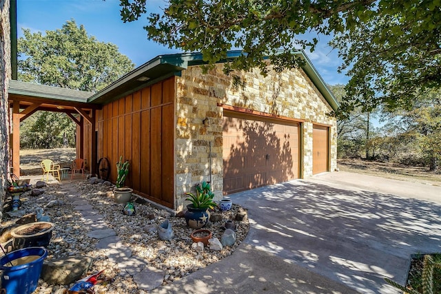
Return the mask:
<path id="1" fill-rule="evenodd" d="M 19 38 L 19 80 L 96 92 L 134 69 L 130 59 L 111 43 L 88 36 L 83 25 L 67 21 L 54 31 Z"/>

